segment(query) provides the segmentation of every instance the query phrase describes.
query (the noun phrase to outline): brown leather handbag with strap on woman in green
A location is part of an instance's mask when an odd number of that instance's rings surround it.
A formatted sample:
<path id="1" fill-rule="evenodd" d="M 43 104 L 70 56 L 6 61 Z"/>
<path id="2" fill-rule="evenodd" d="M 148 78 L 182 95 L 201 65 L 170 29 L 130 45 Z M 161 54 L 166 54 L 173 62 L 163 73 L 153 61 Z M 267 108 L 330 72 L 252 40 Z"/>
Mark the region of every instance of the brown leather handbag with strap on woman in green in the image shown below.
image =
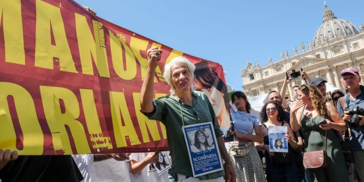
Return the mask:
<path id="1" fill-rule="evenodd" d="M 325 132 L 325 150 L 305 152 L 303 154 L 303 165 L 306 168 L 325 168 L 329 166 L 329 157 L 327 149 L 327 131 Z"/>

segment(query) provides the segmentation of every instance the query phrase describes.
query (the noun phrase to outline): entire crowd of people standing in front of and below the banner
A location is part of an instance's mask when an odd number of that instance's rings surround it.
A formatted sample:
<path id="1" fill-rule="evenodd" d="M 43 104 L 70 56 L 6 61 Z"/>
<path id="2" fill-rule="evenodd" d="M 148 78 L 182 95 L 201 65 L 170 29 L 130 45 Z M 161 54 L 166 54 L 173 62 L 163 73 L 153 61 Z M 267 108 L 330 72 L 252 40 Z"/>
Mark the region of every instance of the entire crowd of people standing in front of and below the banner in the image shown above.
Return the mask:
<path id="1" fill-rule="evenodd" d="M 173 58 L 165 65 L 164 78 L 170 85 L 170 94 L 153 99 L 154 74 L 162 53 L 156 47 L 147 51 L 148 68 L 140 106 L 145 116 L 165 125 L 169 151 L 19 156 L 17 151 L 0 149 L 2 182 L 353 182 L 354 179 L 361 182 L 364 179 L 364 116 L 360 110 L 364 108 L 364 86 L 360 85 L 361 78 L 355 68 L 341 71 L 347 93 L 335 91 L 331 98 L 326 97 L 325 80 L 311 79 L 302 72 L 307 83 L 293 86 L 296 100 L 288 101 L 281 97 L 291 81 L 287 76 L 281 93 L 269 93 L 269 100 L 256 116 L 251 114 L 244 92 L 232 93 L 234 110 L 228 104 L 226 85 L 208 64 L 193 65 L 185 57 Z M 207 136 L 203 130 L 193 134 L 190 146 L 184 145 L 187 142 L 182 127 L 198 123 L 212 123 L 214 145 L 208 141 L 211 135 Z M 286 128 L 283 138 L 269 141 L 269 130 L 281 126 Z M 341 148 L 342 132 L 347 130 L 355 164 L 346 161 Z M 194 178 L 188 147 L 197 153 L 216 148 L 224 161 L 224 170 Z M 244 155 L 233 155 L 232 148 L 244 150 Z M 288 152 L 273 150 L 283 148 Z M 328 165 L 308 166 L 305 153 L 319 150 L 326 151 Z M 264 154 L 259 155 L 258 151 Z"/>

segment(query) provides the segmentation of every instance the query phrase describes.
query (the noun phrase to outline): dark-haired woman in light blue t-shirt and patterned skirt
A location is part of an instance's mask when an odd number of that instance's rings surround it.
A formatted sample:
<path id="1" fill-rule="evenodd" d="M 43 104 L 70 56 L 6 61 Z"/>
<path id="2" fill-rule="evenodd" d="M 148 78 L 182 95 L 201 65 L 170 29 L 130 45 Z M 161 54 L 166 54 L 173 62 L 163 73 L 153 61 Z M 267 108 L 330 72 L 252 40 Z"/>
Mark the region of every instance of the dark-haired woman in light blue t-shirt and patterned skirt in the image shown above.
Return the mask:
<path id="1" fill-rule="evenodd" d="M 237 111 L 230 109 L 232 124 L 235 128 L 235 138 L 238 141 L 230 142 L 229 146 L 245 147 L 245 156 L 232 156 L 230 159 L 236 171 L 237 182 L 264 182 L 263 164 L 254 147 L 254 142 L 263 142 L 262 124 L 257 116 L 250 114 L 250 103 L 242 91 L 232 93 L 232 103 Z M 255 134 L 253 134 L 255 130 Z"/>

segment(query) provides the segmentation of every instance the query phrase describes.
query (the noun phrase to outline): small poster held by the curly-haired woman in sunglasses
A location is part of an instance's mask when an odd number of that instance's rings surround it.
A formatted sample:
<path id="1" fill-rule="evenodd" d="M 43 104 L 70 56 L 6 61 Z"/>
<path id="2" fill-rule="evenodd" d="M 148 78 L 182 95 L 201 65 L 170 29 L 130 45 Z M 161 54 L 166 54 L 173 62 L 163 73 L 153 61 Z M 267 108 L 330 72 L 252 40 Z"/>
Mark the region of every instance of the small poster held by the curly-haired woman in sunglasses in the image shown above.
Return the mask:
<path id="1" fill-rule="evenodd" d="M 286 126 L 269 126 L 269 151 L 288 152 L 288 143 L 284 135 L 287 134 Z"/>

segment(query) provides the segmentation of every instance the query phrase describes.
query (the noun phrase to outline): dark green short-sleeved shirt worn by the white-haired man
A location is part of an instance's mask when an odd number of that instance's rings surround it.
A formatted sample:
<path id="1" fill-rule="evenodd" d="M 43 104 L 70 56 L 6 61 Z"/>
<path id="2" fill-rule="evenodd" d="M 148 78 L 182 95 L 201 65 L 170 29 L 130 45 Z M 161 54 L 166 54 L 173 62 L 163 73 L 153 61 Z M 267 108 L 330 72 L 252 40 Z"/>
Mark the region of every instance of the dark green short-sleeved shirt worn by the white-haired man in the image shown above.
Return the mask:
<path id="1" fill-rule="evenodd" d="M 183 136 L 183 124 L 186 126 L 212 121 L 216 137 L 223 135 L 209 98 L 200 91 L 193 91 L 192 95 L 193 107 L 182 102 L 178 97 L 169 95 L 153 100 L 154 112 L 142 112 L 149 119 L 161 121 L 165 125 L 169 151 L 172 157 L 172 173 L 179 173 L 189 177 L 193 177 L 193 173 Z M 210 180 L 222 176 L 224 176 L 224 170 L 199 176 L 199 179 Z"/>

